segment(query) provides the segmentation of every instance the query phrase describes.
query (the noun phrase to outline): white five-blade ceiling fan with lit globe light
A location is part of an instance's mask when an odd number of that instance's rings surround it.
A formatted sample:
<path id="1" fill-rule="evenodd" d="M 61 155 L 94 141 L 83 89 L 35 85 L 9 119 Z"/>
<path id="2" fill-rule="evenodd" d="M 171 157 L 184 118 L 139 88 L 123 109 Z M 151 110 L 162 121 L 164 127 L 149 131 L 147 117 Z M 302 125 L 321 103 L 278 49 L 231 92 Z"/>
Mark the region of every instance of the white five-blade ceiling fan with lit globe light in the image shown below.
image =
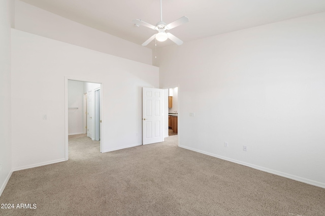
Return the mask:
<path id="1" fill-rule="evenodd" d="M 170 24 L 166 24 L 163 21 L 163 9 L 161 7 L 161 0 L 160 0 L 160 21 L 156 24 L 156 26 L 151 25 L 149 23 L 146 23 L 146 22 L 144 22 L 142 20 L 139 20 L 139 19 L 133 20 L 133 22 L 135 23 L 136 26 L 143 25 L 143 26 L 146 26 L 148 28 L 151 28 L 151 29 L 154 29 L 154 30 L 158 31 L 157 33 L 152 35 L 149 39 L 147 39 L 142 44 L 142 46 L 147 46 L 149 44 L 149 42 L 151 42 L 154 38 L 156 38 L 156 40 L 161 41 L 161 42 L 165 41 L 165 40 L 167 40 L 167 38 L 169 38 L 173 42 L 175 42 L 175 44 L 182 45 L 183 41 L 181 39 L 174 36 L 172 33 L 170 33 L 170 32 L 166 33 L 165 31 L 169 30 L 169 29 L 172 29 L 172 28 L 175 28 L 175 27 L 177 27 L 179 25 L 182 25 L 184 23 L 187 23 L 188 18 L 184 16 L 184 17 L 181 17 L 181 18 L 175 20 L 174 22 L 171 22 Z"/>

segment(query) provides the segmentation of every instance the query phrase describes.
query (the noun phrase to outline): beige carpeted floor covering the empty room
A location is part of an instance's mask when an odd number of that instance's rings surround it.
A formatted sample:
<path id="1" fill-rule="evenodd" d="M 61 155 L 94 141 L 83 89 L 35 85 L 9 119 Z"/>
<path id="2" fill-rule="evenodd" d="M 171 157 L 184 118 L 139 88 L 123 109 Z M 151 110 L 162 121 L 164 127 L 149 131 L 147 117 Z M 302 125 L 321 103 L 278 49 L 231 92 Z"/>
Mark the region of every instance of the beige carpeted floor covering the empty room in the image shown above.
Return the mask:
<path id="1" fill-rule="evenodd" d="M 68 161 L 12 174 L 0 203 L 15 208 L 0 215 L 325 215 L 325 189 L 179 148 L 177 139 L 100 153 L 99 142 L 71 136 Z"/>

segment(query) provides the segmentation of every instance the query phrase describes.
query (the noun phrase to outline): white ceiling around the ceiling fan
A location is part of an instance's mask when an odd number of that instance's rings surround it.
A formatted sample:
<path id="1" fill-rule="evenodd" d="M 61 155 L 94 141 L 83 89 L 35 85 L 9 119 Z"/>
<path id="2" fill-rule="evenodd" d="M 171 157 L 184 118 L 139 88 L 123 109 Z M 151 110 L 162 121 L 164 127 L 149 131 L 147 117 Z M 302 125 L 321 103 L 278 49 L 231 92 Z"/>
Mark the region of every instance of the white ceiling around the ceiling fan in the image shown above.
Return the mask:
<path id="1" fill-rule="evenodd" d="M 141 45 L 155 30 L 136 27 L 160 21 L 159 0 L 21 0 L 59 16 Z M 167 24 L 187 16 L 170 32 L 184 42 L 216 34 L 325 12 L 325 0 L 162 0 Z M 157 47 L 173 45 L 167 40 Z M 154 48 L 154 41 L 147 47 Z"/>

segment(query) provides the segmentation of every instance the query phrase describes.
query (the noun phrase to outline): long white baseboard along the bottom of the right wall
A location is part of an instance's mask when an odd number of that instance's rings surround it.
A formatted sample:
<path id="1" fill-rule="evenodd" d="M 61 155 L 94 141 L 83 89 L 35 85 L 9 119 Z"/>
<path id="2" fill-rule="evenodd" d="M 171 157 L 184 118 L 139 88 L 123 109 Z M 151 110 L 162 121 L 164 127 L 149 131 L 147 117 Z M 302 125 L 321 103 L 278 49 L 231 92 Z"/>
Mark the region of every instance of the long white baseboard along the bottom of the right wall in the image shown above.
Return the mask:
<path id="1" fill-rule="evenodd" d="M 298 182 L 303 182 L 303 183 L 306 183 L 306 184 L 309 184 L 309 185 L 317 186 L 317 187 L 320 187 L 320 188 L 325 188 L 325 184 L 321 183 L 321 182 L 316 182 L 316 181 L 313 181 L 313 180 L 310 180 L 310 179 L 305 179 L 305 178 L 302 178 L 302 177 L 286 174 L 285 172 L 280 172 L 280 171 L 269 169 L 269 168 L 266 168 L 266 167 L 263 167 L 263 166 L 257 166 L 257 165 L 254 165 L 254 164 L 246 163 L 246 162 L 235 160 L 235 159 L 228 158 L 228 157 L 223 157 L 223 156 L 220 156 L 220 155 L 217 155 L 217 154 L 212 154 L 212 153 L 209 153 L 209 152 L 201 151 L 201 150 L 198 150 L 198 149 L 193 149 L 193 148 L 182 146 L 182 145 L 179 145 L 179 147 L 184 148 L 184 149 L 188 149 L 188 150 L 191 150 L 191 151 L 196 151 L 196 152 L 199 152 L 199 153 L 202 153 L 202 154 L 206 154 L 206 155 L 209 155 L 209 156 L 212 156 L 212 157 L 217 157 L 217 158 L 220 158 L 222 160 L 228 160 L 230 162 L 238 163 L 238 164 L 248 166 L 248 167 L 251 167 L 251 168 L 254 168 L 254 169 L 258 169 L 258 170 L 261 170 L 261 171 L 269 172 L 270 174 L 274 174 L 274 175 L 281 176 L 281 177 L 284 177 L 284 178 L 292 179 L 292 180 L 295 180 L 295 181 L 298 181 Z"/>

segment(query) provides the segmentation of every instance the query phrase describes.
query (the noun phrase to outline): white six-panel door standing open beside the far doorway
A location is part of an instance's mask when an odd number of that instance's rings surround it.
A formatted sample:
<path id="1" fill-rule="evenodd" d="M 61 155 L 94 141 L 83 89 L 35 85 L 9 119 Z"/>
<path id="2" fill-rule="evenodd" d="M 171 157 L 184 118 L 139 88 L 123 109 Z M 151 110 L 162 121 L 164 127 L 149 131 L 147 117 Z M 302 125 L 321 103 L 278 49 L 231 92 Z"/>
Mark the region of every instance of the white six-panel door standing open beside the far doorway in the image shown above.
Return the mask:
<path id="1" fill-rule="evenodd" d="M 163 90 L 142 89 L 142 143 L 143 145 L 164 141 Z"/>

